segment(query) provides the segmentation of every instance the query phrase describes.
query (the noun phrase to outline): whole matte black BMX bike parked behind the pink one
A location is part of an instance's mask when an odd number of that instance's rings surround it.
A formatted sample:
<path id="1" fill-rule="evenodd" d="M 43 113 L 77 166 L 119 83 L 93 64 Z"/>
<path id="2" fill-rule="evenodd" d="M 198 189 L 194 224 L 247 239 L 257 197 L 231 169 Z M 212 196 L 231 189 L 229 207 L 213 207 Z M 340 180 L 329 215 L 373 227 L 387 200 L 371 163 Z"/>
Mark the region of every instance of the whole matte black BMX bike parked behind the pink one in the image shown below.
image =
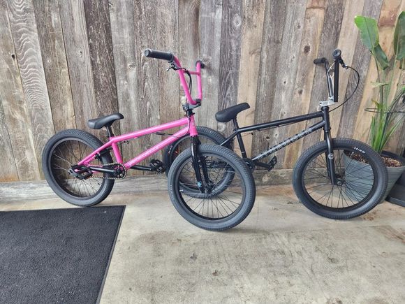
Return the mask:
<path id="1" fill-rule="evenodd" d="M 233 122 L 233 133 L 227 138 L 205 126 L 197 126 L 197 129 L 199 139 L 203 143 L 214 143 L 232 149 L 233 141 L 237 138 L 242 158 L 251 170 L 255 167 L 263 167 L 268 171 L 274 168 L 277 158 L 273 157 L 268 163 L 260 160 L 314 131 L 323 129 L 324 140 L 309 147 L 297 160 L 293 170 L 293 187 L 297 197 L 309 210 L 323 217 L 348 219 L 369 212 L 382 201 L 387 187 L 388 173 L 379 154 L 369 145 L 350 138 L 332 138 L 331 136 L 329 107 L 338 103 L 339 66 L 351 68 L 344 64 L 341 50 L 334 50 L 332 57 L 334 61 L 332 66 L 325 57 L 314 60 L 314 64 L 325 66 L 328 89 L 328 99 L 319 103 L 318 111 L 240 127 L 237 123 L 237 115 L 249 108 L 248 103 L 240 103 L 221 110 L 215 115 L 218 122 Z M 352 69 L 355 71 L 354 68 Z M 358 75 L 357 71 L 355 73 Z M 359 75 L 358 78 L 360 78 Z M 316 118 L 321 118 L 321 122 L 286 138 L 256 156 L 247 157 L 242 133 L 272 129 Z M 176 162 L 180 152 L 189 147 L 187 136 L 179 138 L 168 146 L 164 153 L 165 166 L 169 168 Z M 188 189 L 189 193 L 191 190 Z"/>

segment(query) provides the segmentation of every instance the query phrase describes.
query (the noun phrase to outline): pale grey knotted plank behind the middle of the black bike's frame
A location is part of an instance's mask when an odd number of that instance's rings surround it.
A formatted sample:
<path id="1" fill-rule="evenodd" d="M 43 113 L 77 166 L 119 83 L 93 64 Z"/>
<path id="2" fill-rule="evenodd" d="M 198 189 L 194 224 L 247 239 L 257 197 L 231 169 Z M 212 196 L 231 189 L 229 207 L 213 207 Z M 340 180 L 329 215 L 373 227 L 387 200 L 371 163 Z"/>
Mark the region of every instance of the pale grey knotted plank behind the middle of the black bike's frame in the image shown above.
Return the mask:
<path id="1" fill-rule="evenodd" d="M 286 8 L 284 20 L 283 38 L 281 41 L 279 68 L 277 69 L 277 81 L 274 84 L 276 92 L 272 106 L 271 120 L 280 120 L 291 117 L 294 113 L 295 101 L 293 101 L 295 79 L 300 59 L 300 43 L 304 28 L 304 16 L 307 0 L 290 1 Z M 285 127 L 270 131 L 270 145 L 277 145 L 281 140 L 293 135 L 287 133 Z M 283 165 L 285 150 L 277 152 L 278 164 Z"/>

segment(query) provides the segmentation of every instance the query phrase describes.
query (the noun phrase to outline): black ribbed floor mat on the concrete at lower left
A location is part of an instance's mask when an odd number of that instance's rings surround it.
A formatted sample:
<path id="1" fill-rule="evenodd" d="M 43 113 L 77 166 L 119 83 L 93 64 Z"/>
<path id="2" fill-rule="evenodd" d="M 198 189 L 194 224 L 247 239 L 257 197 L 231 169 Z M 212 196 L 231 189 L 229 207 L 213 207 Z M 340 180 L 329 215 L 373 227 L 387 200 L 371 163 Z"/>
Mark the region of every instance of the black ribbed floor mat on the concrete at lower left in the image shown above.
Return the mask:
<path id="1" fill-rule="evenodd" d="M 124 209 L 0 212 L 0 302 L 97 303 Z"/>

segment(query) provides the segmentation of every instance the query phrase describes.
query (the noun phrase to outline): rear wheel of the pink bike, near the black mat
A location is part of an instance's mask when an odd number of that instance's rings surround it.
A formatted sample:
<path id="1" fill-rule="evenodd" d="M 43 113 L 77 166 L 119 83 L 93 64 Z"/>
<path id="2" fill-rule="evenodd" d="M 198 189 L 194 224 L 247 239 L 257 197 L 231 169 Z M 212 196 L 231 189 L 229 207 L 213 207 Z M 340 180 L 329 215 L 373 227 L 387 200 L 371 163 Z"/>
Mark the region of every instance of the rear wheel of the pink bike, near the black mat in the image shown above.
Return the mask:
<path id="1" fill-rule="evenodd" d="M 42 167 L 47 183 L 62 199 L 73 205 L 91 206 L 103 201 L 110 194 L 114 180 L 74 178 L 68 170 L 80 159 L 101 147 L 98 138 L 90 133 L 68 129 L 60 131 L 48 140 L 43 149 Z M 101 165 L 112 163 L 109 153 L 104 153 L 101 161 L 91 164 Z M 108 178 L 108 174 L 103 175 Z"/>

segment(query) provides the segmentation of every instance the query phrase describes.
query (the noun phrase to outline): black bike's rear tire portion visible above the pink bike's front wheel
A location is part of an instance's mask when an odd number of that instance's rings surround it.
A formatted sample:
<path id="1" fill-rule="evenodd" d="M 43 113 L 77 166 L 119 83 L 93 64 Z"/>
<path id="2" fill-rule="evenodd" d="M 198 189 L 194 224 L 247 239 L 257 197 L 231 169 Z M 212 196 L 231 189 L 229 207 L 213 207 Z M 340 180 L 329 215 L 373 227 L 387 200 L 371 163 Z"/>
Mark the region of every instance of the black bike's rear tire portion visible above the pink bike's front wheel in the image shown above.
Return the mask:
<path id="1" fill-rule="evenodd" d="M 207 128 L 206 126 L 196 126 L 198 132 L 198 139 L 202 144 L 212 144 L 212 145 L 221 145 L 226 138 L 223 137 L 221 133 L 215 131 L 213 129 Z M 173 161 L 175 158 L 182 153 L 184 150 L 190 148 L 190 136 L 185 135 L 176 140 L 171 145 L 165 148 L 165 152 L 163 152 L 163 164 L 166 167 L 166 175 L 169 173 L 170 166 L 172 166 Z M 228 149 L 232 149 L 231 145 L 228 144 L 226 147 Z"/>

